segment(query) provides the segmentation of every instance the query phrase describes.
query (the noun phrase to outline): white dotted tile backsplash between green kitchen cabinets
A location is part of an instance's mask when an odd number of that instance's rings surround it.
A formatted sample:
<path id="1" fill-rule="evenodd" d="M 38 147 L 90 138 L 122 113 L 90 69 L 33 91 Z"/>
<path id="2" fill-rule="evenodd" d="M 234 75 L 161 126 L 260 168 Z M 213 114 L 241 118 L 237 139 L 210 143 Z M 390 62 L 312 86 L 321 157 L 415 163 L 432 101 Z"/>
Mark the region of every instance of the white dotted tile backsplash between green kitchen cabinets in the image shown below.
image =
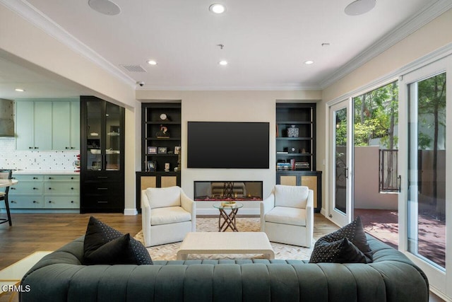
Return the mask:
<path id="1" fill-rule="evenodd" d="M 4 169 L 73 171 L 79 153 L 80 150 L 16 151 L 15 139 L 0 138 L 0 168 Z"/>

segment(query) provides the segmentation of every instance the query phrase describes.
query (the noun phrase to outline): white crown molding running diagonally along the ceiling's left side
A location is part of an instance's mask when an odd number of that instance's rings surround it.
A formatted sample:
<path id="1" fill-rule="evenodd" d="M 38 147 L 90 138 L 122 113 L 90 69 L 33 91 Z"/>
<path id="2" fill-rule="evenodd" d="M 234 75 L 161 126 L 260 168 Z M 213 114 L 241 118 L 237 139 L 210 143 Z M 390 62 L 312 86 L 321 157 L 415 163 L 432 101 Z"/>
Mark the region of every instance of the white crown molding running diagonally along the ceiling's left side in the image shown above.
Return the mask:
<path id="1" fill-rule="evenodd" d="M 64 28 L 62 28 L 59 24 L 55 23 L 43 13 L 38 11 L 34 6 L 29 4 L 28 1 L 0 0 L 0 4 L 3 4 L 11 11 L 17 13 L 37 28 L 42 29 L 44 33 L 47 33 L 47 35 L 59 40 L 59 42 L 69 47 L 73 50 L 73 52 L 81 54 L 83 57 L 100 66 L 102 69 L 105 69 L 105 71 L 109 72 L 109 74 L 116 76 L 118 79 L 124 81 L 130 86 L 135 86 L 136 81 L 130 76 L 124 74 L 124 72 L 122 72 L 117 66 L 114 66 L 112 63 L 108 62 L 100 56 L 100 54 L 97 54 L 97 52 L 64 30 Z"/>

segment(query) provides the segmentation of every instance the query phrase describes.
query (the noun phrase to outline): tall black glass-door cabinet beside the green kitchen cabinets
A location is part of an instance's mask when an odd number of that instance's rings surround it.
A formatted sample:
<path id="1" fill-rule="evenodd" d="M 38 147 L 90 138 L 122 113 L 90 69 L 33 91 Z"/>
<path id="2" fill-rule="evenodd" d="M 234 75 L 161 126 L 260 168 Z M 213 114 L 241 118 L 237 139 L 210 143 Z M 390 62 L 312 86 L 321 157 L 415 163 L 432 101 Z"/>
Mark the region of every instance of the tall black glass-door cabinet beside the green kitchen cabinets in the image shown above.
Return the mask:
<path id="1" fill-rule="evenodd" d="M 81 96 L 81 213 L 124 211 L 124 108 Z"/>

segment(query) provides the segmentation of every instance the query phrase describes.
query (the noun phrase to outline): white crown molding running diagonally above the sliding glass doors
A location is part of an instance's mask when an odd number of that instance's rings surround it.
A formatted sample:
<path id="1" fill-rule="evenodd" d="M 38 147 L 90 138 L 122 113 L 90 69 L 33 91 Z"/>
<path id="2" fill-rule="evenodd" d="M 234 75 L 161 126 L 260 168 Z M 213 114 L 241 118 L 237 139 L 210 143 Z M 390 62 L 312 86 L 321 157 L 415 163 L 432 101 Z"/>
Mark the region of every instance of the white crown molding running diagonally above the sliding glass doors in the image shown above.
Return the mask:
<path id="1" fill-rule="evenodd" d="M 396 45 L 396 43 L 400 42 L 405 37 L 408 37 L 408 35 L 422 28 L 422 26 L 426 25 L 430 21 L 434 20 L 434 18 L 440 16 L 451 8 L 452 1 L 450 0 L 438 0 L 434 4 L 425 6 L 422 11 L 417 13 L 415 16 L 412 16 L 412 18 L 408 21 L 400 24 L 397 28 L 391 30 L 391 32 L 384 35 L 380 40 L 371 46 L 367 47 L 366 50 L 361 52 L 354 59 L 350 60 L 347 64 L 338 69 L 338 71 L 335 71 L 327 79 L 321 81 L 319 86 L 321 89 L 327 88 L 332 83 L 335 83 L 347 74 L 350 74 L 352 71 L 359 68 L 359 66 L 366 64 L 374 57 L 378 56 L 385 50 L 388 50 L 393 45 Z"/>

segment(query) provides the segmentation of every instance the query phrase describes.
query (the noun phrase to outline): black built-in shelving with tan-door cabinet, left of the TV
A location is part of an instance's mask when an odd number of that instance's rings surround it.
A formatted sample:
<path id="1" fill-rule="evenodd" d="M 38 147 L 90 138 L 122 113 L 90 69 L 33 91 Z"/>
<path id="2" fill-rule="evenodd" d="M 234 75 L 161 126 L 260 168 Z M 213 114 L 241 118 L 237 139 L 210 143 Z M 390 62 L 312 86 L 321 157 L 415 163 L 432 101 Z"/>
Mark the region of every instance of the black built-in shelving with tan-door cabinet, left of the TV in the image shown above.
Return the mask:
<path id="1" fill-rule="evenodd" d="M 181 185 L 181 123 L 180 101 L 141 104 L 141 171 L 136 172 L 139 212 L 141 190 Z"/>

